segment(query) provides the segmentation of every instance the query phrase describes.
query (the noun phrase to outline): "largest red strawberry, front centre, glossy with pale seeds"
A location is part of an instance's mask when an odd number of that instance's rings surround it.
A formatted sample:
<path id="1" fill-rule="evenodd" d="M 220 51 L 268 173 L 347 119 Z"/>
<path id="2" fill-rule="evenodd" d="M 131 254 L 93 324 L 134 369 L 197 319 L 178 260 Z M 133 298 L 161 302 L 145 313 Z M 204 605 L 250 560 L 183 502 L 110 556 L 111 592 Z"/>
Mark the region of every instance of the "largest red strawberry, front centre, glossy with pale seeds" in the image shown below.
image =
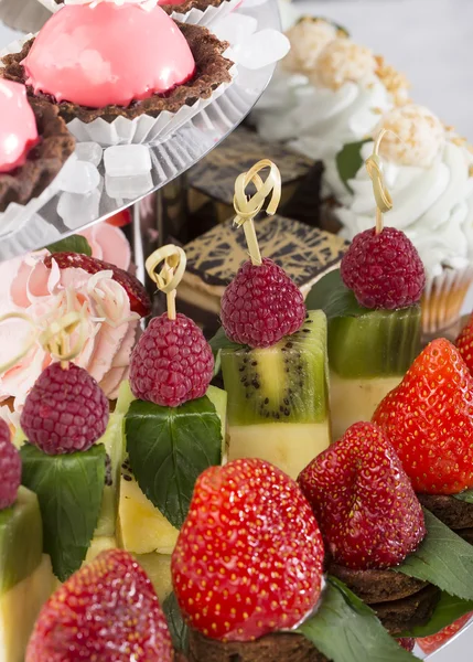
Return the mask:
<path id="1" fill-rule="evenodd" d="M 212 639 L 252 641 L 313 610 L 323 558 L 297 483 L 264 460 L 241 459 L 197 479 L 171 569 L 192 628 Z"/>

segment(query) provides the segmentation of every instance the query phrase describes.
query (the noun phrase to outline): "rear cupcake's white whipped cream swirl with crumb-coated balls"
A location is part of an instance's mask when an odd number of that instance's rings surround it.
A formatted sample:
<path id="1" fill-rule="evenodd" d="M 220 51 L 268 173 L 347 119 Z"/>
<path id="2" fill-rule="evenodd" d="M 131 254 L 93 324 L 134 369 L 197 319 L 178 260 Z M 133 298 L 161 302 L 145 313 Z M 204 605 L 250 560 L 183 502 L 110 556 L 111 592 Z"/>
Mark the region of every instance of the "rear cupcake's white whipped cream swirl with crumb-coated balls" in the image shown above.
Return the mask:
<path id="1" fill-rule="evenodd" d="M 290 94 L 286 92 L 279 105 L 267 103 L 270 107 L 258 110 L 258 131 L 268 141 L 287 142 L 295 151 L 322 160 L 323 197 L 347 204 L 351 192 L 340 175 L 336 156 L 347 143 L 369 137 L 384 113 L 407 102 L 408 83 L 381 57 L 333 26 L 332 32 L 326 26 L 323 36 L 321 31 L 316 43 L 322 47 L 315 49 L 316 57 L 304 65 L 303 44 L 310 40 L 300 36 L 301 43 L 293 43 L 286 65 L 300 70 L 286 76 Z"/>

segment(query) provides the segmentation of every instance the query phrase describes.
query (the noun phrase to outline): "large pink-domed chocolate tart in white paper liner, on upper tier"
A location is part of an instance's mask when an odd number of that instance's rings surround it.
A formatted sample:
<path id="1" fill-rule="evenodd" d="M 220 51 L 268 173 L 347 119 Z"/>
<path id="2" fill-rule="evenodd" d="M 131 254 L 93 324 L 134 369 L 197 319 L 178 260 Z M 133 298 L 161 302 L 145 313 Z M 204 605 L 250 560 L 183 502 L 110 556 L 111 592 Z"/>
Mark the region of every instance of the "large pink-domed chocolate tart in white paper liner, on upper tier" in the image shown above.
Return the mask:
<path id="1" fill-rule="evenodd" d="M 169 135 L 232 82 L 227 46 L 205 28 L 175 23 L 159 7 L 67 6 L 21 52 L 3 58 L 2 75 L 54 104 L 79 139 L 94 124 L 89 138 L 104 145 L 146 142 L 148 135 L 149 141 Z M 107 126 L 115 120 L 118 139 Z"/>

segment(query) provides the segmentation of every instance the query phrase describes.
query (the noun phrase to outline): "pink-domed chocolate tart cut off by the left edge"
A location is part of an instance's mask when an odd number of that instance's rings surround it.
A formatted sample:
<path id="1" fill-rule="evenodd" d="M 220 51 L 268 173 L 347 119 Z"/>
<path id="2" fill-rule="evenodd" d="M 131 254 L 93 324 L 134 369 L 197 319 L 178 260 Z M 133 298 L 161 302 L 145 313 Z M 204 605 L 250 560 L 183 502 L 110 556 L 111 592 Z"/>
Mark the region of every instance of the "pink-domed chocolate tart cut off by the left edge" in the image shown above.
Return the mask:
<path id="1" fill-rule="evenodd" d="M 25 88 L 0 81 L 0 212 L 26 205 L 51 184 L 74 151 L 75 140 L 57 109 L 28 100 Z M 13 140 L 12 140 L 13 137 Z"/>

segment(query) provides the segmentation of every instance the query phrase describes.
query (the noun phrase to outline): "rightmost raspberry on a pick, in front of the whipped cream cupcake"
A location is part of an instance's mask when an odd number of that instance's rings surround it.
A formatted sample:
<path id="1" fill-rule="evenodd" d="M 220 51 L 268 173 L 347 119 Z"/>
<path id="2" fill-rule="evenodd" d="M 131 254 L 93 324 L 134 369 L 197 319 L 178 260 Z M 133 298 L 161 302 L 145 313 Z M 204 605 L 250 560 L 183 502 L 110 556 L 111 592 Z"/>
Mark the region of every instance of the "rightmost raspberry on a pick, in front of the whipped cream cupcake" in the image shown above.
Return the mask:
<path id="1" fill-rule="evenodd" d="M 375 228 L 355 236 L 341 264 L 342 280 L 365 308 L 395 310 L 420 301 L 426 285 L 422 261 L 399 229 Z"/>

